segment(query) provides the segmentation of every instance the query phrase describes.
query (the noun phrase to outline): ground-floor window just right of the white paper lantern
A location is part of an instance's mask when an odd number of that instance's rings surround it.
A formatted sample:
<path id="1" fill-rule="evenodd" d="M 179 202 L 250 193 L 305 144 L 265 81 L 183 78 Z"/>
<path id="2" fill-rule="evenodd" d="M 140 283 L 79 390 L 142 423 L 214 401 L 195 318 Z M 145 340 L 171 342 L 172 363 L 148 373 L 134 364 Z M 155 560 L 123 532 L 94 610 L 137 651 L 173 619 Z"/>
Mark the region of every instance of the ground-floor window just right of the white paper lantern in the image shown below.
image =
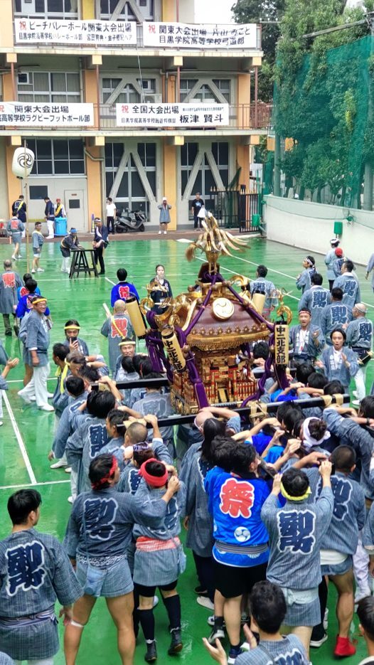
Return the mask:
<path id="1" fill-rule="evenodd" d="M 85 174 L 82 139 L 29 139 L 35 154 L 31 175 L 73 176 Z"/>

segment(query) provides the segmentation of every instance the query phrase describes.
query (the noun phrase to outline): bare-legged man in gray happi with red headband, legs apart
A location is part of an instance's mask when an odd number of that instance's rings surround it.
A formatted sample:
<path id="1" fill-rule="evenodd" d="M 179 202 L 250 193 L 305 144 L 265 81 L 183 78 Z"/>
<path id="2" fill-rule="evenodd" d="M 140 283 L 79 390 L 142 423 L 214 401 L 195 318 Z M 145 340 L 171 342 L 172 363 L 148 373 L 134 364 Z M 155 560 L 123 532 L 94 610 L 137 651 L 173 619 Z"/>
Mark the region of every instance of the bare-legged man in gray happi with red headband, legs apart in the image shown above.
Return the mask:
<path id="1" fill-rule="evenodd" d="M 73 622 L 65 631 L 65 654 L 68 662 L 76 662 L 83 628 L 97 597 L 105 597 L 117 627 L 122 664 L 130 665 L 135 649 L 134 585 L 127 563 L 132 526 L 136 522 L 158 528 L 179 484 L 171 479 L 168 489 L 152 504 L 145 504 L 131 494 L 119 494 L 116 491 L 119 468 L 111 454 L 100 454 L 92 460 L 89 477 L 90 491 L 75 500 L 64 540 L 85 592 L 74 605 Z"/>

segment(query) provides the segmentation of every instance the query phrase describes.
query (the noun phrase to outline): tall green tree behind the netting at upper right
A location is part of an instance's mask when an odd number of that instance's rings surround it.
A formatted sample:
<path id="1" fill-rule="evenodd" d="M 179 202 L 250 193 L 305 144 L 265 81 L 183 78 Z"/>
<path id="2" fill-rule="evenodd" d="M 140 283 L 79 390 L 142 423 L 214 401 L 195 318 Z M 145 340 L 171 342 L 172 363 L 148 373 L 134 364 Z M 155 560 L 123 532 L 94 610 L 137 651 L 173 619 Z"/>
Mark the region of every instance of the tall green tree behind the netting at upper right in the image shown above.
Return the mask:
<path id="1" fill-rule="evenodd" d="M 276 132 L 294 139 L 286 176 L 299 184 L 300 198 L 309 189 L 320 200 L 327 183 L 330 202 L 341 191 L 342 205 L 346 192 L 358 204 L 364 145 L 373 138 L 365 124 L 372 39 L 361 39 L 368 34 L 367 23 L 315 38 L 306 35 L 363 18 L 362 10 L 345 10 L 345 4 L 286 0 L 274 97 Z M 297 159 L 292 159 L 295 151 Z"/>

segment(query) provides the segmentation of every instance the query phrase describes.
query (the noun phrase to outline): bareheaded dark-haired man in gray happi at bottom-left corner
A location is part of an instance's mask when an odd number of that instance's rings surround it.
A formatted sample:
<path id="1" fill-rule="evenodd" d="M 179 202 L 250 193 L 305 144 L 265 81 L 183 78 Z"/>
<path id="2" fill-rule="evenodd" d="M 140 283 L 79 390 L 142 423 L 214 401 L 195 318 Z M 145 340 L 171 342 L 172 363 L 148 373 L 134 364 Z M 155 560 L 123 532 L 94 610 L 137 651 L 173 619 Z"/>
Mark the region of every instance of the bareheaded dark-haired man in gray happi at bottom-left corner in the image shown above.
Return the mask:
<path id="1" fill-rule="evenodd" d="M 58 539 L 36 531 L 40 506 L 31 488 L 8 501 L 13 528 L 0 541 L 0 644 L 16 661 L 52 665 L 59 647 L 55 602 L 70 623 L 82 587 Z"/>

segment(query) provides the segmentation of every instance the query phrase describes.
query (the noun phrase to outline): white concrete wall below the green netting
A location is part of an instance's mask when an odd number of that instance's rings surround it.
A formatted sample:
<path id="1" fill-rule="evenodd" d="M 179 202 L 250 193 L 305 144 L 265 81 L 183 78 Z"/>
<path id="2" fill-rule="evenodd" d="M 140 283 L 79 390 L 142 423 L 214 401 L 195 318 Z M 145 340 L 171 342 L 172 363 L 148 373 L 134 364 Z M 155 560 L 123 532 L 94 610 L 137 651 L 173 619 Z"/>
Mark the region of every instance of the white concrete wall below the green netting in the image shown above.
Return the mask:
<path id="1" fill-rule="evenodd" d="M 348 208 L 325 206 L 310 201 L 296 201 L 265 196 L 264 220 L 267 238 L 277 243 L 325 254 L 334 237 L 334 220 L 343 220 L 341 247 L 353 261 L 366 265 L 374 252 L 374 212 L 351 210 L 353 222 L 344 219 Z"/>

